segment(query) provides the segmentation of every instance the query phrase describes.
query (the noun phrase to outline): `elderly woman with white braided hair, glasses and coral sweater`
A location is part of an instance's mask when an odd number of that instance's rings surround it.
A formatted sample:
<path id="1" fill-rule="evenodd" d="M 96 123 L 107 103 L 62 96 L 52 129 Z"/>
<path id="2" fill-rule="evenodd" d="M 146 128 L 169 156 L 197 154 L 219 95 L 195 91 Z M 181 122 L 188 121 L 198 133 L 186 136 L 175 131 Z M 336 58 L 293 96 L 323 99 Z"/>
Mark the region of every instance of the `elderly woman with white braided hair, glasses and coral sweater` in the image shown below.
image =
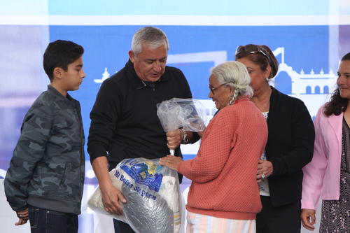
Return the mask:
<path id="1" fill-rule="evenodd" d="M 267 124 L 249 101 L 250 81 L 239 62 L 214 67 L 209 97 L 219 111 L 204 131 L 197 156 L 160 159 L 193 181 L 186 206 L 188 232 L 255 232 L 255 216 L 261 210 L 255 175 Z"/>

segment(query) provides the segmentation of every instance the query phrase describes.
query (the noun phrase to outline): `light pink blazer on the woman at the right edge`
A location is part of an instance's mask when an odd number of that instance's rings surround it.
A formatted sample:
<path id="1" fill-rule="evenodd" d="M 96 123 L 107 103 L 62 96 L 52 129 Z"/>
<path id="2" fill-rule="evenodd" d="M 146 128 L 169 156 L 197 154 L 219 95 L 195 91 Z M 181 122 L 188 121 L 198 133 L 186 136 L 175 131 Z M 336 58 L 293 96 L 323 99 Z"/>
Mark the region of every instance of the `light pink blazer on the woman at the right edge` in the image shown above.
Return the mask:
<path id="1" fill-rule="evenodd" d="M 302 209 L 316 209 L 320 195 L 323 200 L 339 199 L 343 113 L 326 117 L 323 107 L 314 121 L 314 157 L 302 169 Z"/>

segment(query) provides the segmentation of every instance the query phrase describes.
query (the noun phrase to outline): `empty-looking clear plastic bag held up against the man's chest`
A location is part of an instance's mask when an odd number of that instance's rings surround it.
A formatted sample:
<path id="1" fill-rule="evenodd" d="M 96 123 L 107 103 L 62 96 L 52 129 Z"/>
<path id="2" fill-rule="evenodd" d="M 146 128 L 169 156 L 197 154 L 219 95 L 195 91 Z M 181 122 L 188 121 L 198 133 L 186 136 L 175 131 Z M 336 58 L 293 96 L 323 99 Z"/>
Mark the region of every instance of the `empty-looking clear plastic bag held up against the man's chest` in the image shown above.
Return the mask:
<path id="1" fill-rule="evenodd" d="M 183 128 L 186 131 L 202 132 L 207 114 L 197 99 L 172 98 L 157 104 L 157 115 L 165 132 Z"/>

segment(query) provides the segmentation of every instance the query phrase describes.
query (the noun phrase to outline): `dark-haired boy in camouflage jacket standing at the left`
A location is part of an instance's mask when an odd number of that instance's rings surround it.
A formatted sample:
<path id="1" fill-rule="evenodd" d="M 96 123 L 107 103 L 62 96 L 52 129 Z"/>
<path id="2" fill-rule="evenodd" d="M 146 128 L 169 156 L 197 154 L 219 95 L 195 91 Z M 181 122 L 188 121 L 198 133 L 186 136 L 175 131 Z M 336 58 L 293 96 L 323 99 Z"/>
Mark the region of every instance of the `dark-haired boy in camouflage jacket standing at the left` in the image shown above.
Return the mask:
<path id="1" fill-rule="evenodd" d="M 83 52 L 55 41 L 43 55 L 48 90 L 34 101 L 21 127 L 4 181 L 7 201 L 31 232 L 78 232 L 85 155 L 80 104 L 67 91 L 85 78 Z"/>

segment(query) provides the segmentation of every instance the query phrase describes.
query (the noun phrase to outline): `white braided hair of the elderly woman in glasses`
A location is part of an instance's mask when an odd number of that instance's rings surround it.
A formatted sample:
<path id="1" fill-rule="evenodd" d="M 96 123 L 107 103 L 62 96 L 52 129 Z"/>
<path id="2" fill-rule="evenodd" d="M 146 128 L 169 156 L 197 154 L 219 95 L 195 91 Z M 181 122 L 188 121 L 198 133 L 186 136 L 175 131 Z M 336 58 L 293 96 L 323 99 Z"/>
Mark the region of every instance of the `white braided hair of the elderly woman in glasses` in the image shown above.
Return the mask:
<path id="1" fill-rule="evenodd" d="M 224 62 L 211 69 L 211 75 L 216 76 L 220 84 L 226 83 L 234 88 L 229 104 L 235 103 L 241 96 L 253 97 L 253 89 L 250 86 L 251 77 L 244 64 L 234 61 Z"/>

